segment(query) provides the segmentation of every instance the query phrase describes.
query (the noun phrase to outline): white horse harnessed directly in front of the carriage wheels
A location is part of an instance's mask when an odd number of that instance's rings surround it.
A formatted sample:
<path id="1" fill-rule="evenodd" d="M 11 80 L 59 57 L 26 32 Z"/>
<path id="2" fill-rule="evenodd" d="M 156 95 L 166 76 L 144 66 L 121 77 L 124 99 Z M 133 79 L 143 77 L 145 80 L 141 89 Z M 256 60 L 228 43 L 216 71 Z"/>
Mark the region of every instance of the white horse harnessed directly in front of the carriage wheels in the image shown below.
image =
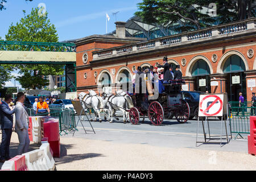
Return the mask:
<path id="1" fill-rule="evenodd" d="M 113 122 L 113 115 L 116 120 L 118 118 L 115 117 L 115 112 L 117 110 L 121 110 L 123 113 L 123 123 L 126 123 L 129 113 L 126 111 L 127 109 L 131 109 L 133 107 L 133 100 L 131 97 L 123 92 L 123 90 L 119 90 L 116 94 L 112 93 L 103 93 L 104 106 L 108 106 L 109 118 L 111 117 L 110 123 Z M 108 119 L 109 120 L 109 119 Z"/>

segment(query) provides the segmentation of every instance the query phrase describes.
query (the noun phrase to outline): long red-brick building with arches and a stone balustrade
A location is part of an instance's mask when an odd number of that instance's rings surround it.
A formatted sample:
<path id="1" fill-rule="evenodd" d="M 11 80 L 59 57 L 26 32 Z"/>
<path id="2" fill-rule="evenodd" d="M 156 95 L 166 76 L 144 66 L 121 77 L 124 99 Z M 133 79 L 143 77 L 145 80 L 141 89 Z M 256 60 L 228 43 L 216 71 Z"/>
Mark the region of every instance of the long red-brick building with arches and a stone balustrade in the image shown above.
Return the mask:
<path id="1" fill-rule="evenodd" d="M 138 66 L 162 63 L 180 65 L 183 90 L 228 93 L 237 101 L 242 92 L 248 101 L 256 92 L 256 18 L 201 30 L 146 40 L 126 36 L 125 22 L 117 22 L 115 35 L 92 35 L 76 40 L 77 93 L 97 90 L 104 82 L 112 89 L 119 74 L 130 80 Z"/>

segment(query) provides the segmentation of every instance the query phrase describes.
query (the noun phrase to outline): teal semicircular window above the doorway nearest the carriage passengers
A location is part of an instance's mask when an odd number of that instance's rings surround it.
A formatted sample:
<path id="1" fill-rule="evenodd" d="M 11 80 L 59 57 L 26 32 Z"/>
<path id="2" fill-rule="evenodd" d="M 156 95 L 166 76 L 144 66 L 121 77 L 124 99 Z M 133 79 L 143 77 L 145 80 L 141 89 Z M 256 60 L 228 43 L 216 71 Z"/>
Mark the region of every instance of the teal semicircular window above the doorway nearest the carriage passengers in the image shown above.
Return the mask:
<path id="1" fill-rule="evenodd" d="M 192 68 L 192 76 L 209 75 L 210 68 L 207 62 L 203 59 L 196 61 Z"/>

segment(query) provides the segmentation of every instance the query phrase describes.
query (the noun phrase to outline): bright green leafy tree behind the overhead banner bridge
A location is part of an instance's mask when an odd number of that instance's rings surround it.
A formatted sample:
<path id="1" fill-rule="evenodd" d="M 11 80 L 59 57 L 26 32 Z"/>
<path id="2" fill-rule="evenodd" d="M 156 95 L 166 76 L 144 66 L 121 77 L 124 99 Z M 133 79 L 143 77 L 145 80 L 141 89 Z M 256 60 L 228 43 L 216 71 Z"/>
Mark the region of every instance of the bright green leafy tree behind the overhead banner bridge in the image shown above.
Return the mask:
<path id="1" fill-rule="evenodd" d="M 24 11 L 23 11 L 24 12 Z M 39 15 L 39 9 L 32 9 L 31 14 L 20 19 L 19 23 L 11 23 L 9 31 L 5 36 L 6 40 L 23 42 L 57 42 L 58 36 L 55 26 L 50 23 L 48 13 Z M 40 51 L 34 49 L 34 51 Z M 40 65 L 40 64 L 19 64 L 13 65 L 19 69 L 22 76 L 16 78 L 23 88 L 36 89 L 49 84 L 48 75 L 63 75 L 64 65 Z"/>

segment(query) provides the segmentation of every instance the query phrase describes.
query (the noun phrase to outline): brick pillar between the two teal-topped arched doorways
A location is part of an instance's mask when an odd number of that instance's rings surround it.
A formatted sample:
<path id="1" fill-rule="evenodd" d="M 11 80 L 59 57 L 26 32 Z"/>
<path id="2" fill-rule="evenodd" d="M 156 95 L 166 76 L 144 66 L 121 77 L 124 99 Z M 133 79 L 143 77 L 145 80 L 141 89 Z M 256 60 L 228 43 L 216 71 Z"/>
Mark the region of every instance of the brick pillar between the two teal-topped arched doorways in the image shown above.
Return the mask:
<path id="1" fill-rule="evenodd" d="M 226 78 L 224 75 L 210 75 L 210 82 L 210 85 L 216 82 L 216 86 L 210 86 L 211 93 L 226 93 Z"/>

